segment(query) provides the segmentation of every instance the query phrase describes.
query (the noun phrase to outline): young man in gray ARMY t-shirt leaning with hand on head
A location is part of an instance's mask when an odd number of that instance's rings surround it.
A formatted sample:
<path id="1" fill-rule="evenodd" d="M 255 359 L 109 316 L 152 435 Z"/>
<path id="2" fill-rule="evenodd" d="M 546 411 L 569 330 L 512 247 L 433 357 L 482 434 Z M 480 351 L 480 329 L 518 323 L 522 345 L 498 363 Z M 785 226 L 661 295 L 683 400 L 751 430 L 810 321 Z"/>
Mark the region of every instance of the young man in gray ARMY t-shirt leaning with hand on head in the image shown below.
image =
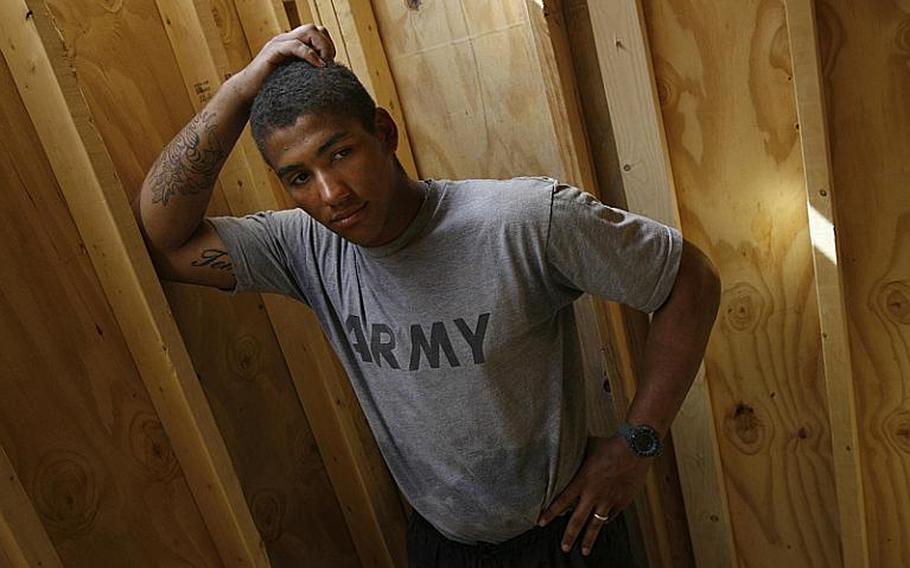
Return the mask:
<path id="1" fill-rule="evenodd" d="M 394 121 L 333 57 L 321 27 L 275 37 L 164 149 L 137 212 L 160 275 L 315 311 L 415 509 L 411 566 L 631 565 L 611 521 L 703 356 L 713 267 L 678 232 L 547 178 L 410 179 Z M 248 118 L 299 208 L 203 219 Z M 584 291 L 654 313 L 610 438 L 586 436 Z"/>

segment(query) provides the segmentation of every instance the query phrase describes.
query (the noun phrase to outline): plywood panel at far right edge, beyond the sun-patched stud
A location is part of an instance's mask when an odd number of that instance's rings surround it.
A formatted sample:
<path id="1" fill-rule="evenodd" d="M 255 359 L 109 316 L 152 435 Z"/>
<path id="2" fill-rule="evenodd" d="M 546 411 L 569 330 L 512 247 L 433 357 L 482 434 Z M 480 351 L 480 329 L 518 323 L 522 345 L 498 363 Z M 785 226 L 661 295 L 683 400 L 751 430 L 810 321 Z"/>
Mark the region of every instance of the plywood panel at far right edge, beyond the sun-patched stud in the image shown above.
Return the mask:
<path id="1" fill-rule="evenodd" d="M 833 182 L 809 187 L 810 215 L 833 222 L 837 234 L 836 243 L 817 246 L 837 259 L 843 278 L 865 499 L 865 514 L 853 522 L 865 518 L 870 566 L 903 566 L 910 558 L 910 6 L 834 0 L 817 3 L 815 17 Z M 807 126 L 800 117 L 804 136 Z M 822 329 L 826 343 L 843 338 L 837 327 Z M 845 410 L 831 407 L 832 428 L 849 418 Z M 835 448 L 836 463 L 847 461 L 845 449 Z"/>

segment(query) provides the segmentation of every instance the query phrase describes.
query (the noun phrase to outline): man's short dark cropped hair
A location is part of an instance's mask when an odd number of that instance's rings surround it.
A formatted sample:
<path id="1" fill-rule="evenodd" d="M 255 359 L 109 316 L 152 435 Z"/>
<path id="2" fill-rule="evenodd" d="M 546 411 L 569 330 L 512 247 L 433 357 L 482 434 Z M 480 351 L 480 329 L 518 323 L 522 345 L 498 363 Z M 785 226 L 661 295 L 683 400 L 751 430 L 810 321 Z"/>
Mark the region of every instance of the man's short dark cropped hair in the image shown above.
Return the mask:
<path id="1" fill-rule="evenodd" d="M 269 74 L 250 110 L 250 130 L 265 156 L 268 137 L 305 114 L 352 117 L 375 132 L 376 102 L 360 79 L 340 63 L 316 67 L 303 59 L 279 63 Z"/>

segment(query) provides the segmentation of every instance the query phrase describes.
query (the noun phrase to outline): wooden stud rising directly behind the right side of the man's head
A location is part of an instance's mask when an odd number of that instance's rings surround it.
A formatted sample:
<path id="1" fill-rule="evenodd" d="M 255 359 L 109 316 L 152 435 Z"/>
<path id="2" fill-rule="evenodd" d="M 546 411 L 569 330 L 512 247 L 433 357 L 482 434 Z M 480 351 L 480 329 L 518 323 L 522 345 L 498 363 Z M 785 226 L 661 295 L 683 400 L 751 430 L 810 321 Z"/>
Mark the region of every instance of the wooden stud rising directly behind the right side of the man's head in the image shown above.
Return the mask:
<path id="1" fill-rule="evenodd" d="M 408 175 L 417 175 L 417 166 L 408 137 L 407 122 L 401 111 L 398 91 L 379 37 L 376 16 L 370 0 L 332 0 L 349 66 L 398 125 L 398 156 Z M 322 12 L 320 12 L 322 13 Z"/>

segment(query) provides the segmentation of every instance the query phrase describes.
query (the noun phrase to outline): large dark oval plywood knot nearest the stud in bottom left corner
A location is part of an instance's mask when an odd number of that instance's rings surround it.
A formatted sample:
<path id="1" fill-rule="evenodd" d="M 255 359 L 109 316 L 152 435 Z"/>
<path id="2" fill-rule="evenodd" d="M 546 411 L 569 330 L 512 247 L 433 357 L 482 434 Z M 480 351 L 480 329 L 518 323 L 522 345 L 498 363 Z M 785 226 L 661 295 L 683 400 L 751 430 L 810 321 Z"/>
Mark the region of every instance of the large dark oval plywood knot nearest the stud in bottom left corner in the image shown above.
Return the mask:
<path id="1" fill-rule="evenodd" d="M 98 514 L 98 483 L 85 456 L 48 452 L 35 473 L 34 502 L 45 527 L 75 538 L 92 530 Z"/>

